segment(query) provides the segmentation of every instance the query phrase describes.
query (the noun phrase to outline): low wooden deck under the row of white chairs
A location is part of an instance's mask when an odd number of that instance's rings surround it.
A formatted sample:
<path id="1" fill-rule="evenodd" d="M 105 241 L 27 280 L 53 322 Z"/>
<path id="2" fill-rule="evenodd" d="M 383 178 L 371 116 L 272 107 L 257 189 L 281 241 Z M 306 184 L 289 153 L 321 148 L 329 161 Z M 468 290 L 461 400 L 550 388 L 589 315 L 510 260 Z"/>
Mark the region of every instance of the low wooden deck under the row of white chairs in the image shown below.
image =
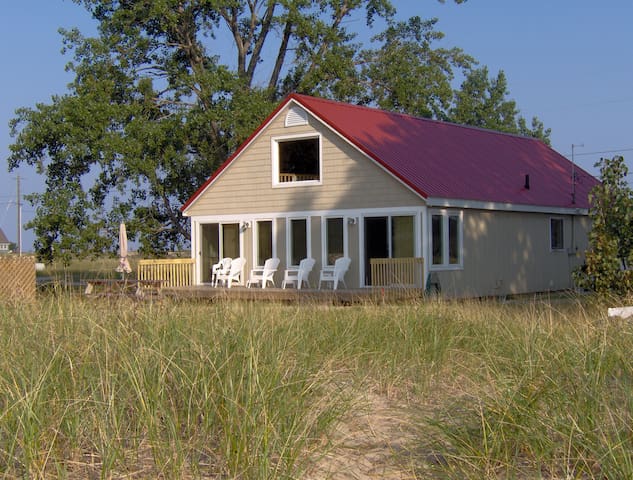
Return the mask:
<path id="1" fill-rule="evenodd" d="M 163 288 L 162 295 L 176 299 L 200 299 L 210 301 L 244 300 L 280 303 L 386 303 L 421 299 L 424 291 L 414 288 L 363 288 L 357 290 L 316 290 L 294 288 L 246 288 L 195 287 Z"/>

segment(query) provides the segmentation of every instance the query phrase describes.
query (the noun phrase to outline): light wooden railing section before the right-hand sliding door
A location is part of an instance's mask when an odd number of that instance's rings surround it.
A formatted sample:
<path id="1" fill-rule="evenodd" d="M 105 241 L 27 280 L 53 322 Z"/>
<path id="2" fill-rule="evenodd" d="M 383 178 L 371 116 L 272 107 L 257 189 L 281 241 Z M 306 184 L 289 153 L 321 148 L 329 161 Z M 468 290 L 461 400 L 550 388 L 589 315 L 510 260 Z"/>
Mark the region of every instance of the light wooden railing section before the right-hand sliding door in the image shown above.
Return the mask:
<path id="1" fill-rule="evenodd" d="M 372 258 L 371 284 L 374 287 L 424 288 L 424 259 Z"/>

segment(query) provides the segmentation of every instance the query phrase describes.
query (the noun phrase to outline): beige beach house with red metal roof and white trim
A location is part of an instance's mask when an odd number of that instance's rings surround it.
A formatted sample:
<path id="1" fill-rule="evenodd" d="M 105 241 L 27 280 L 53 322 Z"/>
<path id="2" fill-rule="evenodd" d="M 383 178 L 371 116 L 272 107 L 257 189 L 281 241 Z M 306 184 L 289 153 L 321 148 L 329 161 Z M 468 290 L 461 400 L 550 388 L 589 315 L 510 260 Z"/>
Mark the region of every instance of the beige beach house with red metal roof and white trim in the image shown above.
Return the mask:
<path id="1" fill-rule="evenodd" d="M 572 286 L 597 182 L 536 139 L 291 94 L 182 213 L 198 284 L 223 256 L 313 257 L 313 286 L 347 256 L 349 288 L 422 257 L 443 294 L 503 295 Z"/>

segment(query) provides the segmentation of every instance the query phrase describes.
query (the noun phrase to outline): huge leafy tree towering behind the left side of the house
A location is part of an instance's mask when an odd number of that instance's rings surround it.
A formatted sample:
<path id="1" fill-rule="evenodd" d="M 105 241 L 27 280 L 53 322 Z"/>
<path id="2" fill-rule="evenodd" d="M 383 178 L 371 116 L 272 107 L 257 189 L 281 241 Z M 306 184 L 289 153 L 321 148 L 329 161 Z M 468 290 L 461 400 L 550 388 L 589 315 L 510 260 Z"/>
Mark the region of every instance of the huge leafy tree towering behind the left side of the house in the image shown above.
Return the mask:
<path id="1" fill-rule="evenodd" d="M 448 118 L 475 63 L 389 0 L 74 1 L 98 36 L 62 31 L 68 92 L 11 123 L 9 167 L 46 180 L 29 225 L 46 260 L 114 249 L 121 220 L 145 252 L 186 243 L 180 206 L 288 92 Z M 359 16 L 386 26 L 373 48 Z"/>

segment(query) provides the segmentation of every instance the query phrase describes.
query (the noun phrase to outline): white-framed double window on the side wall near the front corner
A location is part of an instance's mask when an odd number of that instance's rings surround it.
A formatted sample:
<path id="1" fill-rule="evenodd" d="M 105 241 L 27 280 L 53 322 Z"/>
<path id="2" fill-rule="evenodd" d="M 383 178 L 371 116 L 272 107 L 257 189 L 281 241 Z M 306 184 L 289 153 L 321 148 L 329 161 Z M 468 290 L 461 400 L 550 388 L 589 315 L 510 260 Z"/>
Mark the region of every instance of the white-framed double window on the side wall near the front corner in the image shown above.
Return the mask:
<path id="1" fill-rule="evenodd" d="M 462 216 L 445 211 L 431 214 L 431 266 L 457 268 L 462 264 Z"/>

